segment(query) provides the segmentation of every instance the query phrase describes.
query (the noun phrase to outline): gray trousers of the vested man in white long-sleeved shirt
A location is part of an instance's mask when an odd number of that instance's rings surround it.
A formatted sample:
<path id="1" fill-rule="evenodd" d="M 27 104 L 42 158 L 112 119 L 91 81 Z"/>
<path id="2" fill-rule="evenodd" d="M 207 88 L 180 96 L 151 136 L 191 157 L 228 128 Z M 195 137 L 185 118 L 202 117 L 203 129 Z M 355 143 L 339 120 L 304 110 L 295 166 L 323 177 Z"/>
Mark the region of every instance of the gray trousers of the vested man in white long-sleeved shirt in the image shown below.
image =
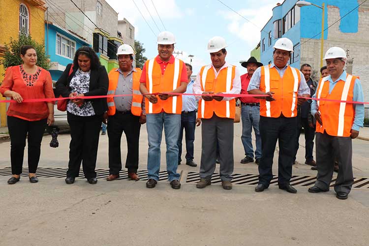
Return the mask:
<path id="1" fill-rule="evenodd" d="M 210 119 L 202 119 L 202 148 L 200 178 L 210 179 L 215 170 L 216 143 L 219 144 L 220 179 L 233 179 L 233 119 L 220 118 L 215 114 Z"/>

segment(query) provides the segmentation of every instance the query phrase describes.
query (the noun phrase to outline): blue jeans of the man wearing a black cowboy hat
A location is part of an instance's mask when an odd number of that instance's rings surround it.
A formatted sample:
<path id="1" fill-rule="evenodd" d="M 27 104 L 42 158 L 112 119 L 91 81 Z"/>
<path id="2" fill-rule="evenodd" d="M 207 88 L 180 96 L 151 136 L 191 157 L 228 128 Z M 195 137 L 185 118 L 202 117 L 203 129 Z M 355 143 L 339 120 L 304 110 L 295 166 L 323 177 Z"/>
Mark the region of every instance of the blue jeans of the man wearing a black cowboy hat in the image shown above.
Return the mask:
<path id="1" fill-rule="evenodd" d="M 242 119 L 241 140 L 242 144 L 244 145 L 245 155 L 251 158 L 254 157 L 254 150 L 252 148 L 252 138 L 251 138 L 251 131 L 253 127 L 256 137 L 255 158 L 258 159 L 261 157 L 261 137 L 259 131 L 260 107 L 242 105 L 241 119 Z"/>

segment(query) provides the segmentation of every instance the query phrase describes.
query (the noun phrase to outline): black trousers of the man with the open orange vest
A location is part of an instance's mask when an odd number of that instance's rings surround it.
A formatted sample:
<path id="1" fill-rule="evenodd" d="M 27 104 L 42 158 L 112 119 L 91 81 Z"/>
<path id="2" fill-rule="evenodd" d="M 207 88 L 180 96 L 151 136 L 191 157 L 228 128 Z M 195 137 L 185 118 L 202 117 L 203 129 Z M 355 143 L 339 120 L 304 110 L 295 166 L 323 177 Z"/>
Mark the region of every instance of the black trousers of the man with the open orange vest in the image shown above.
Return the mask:
<path id="1" fill-rule="evenodd" d="M 141 124 L 140 117 L 131 113 L 117 113 L 108 118 L 109 137 L 109 173 L 119 174 L 122 170 L 121 139 L 124 132 L 127 140 L 127 158 L 125 168 L 128 173 L 136 173 L 138 169 L 138 147 Z"/>

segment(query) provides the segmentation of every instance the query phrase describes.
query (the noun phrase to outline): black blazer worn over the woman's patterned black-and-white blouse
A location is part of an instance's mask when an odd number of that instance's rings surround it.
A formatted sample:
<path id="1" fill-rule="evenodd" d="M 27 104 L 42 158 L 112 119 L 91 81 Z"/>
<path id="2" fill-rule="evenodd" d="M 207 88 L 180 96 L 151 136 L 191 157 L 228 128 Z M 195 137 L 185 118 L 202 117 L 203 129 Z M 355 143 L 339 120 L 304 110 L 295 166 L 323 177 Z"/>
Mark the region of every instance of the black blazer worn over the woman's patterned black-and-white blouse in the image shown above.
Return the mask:
<path id="1" fill-rule="evenodd" d="M 58 82 L 55 86 L 57 94 L 62 95 L 62 97 L 69 97 L 71 93 L 69 83 L 72 80 L 74 74 L 76 73 L 78 67 L 73 67 L 73 71 L 70 75 L 69 70 L 72 64 L 68 64 Z M 108 92 L 109 78 L 104 66 L 100 65 L 98 70 L 92 70 L 90 74 L 90 90 L 84 93 L 85 96 L 92 95 L 106 95 Z M 93 110 L 96 115 L 102 115 L 108 110 L 108 104 L 106 98 L 95 98 L 95 99 L 85 99 L 86 101 L 91 101 Z"/>

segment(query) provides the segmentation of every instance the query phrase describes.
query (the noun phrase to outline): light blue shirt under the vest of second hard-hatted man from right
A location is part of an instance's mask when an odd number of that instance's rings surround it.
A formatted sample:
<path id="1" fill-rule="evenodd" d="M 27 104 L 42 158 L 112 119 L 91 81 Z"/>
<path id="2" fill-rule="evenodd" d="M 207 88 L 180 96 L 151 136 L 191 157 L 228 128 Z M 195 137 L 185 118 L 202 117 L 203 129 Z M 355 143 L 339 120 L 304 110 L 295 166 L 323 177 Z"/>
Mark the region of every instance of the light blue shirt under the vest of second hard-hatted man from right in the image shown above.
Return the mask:
<path id="1" fill-rule="evenodd" d="M 272 67 L 276 67 L 279 76 L 282 78 L 284 75 L 284 72 L 286 71 L 288 64 L 283 67 L 282 69 L 279 69 L 274 63 L 271 64 L 270 66 Z M 247 91 L 251 91 L 254 89 L 258 89 L 260 90 L 260 80 L 261 80 L 261 67 L 258 67 L 256 69 L 256 71 L 254 72 L 254 74 L 251 77 L 250 83 L 248 84 L 247 87 Z M 300 86 L 299 86 L 299 90 L 297 92 L 298 95 L 303 95 L 303 94 L 309 94 L 310 95 L 310 89 L 307 86 L 304 74 L 300 71 Z"/>

